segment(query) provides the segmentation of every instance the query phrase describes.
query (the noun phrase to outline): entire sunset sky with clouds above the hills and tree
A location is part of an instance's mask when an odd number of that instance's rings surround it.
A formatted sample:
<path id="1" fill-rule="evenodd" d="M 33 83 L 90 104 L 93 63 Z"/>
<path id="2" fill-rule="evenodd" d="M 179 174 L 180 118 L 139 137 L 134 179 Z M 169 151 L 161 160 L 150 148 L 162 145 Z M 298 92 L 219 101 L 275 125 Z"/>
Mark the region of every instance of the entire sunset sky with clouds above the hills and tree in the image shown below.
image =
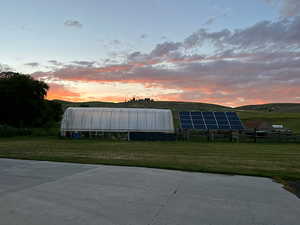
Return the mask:
<path id="1" fill-rule="evenodd" d="M 300 103 L 300 0 L 3 0 L 0 26 L 48 99 Z"/>

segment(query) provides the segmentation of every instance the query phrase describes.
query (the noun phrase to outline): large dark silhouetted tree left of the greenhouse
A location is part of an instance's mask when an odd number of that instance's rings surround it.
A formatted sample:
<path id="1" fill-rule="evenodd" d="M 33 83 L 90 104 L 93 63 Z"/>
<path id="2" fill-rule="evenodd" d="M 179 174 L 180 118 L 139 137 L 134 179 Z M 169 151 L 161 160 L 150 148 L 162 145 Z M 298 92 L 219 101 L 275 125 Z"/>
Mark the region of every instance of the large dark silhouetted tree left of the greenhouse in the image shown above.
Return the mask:
<path id="1" fill-rule="evenodd" d="M 0 124 L 34 127 L 49 121 L 49 112 L 59 110 L 57 104 L 45 100 L 48 89 L 45 82 L 34 80 L 29 75 L 0 73 Z"/>

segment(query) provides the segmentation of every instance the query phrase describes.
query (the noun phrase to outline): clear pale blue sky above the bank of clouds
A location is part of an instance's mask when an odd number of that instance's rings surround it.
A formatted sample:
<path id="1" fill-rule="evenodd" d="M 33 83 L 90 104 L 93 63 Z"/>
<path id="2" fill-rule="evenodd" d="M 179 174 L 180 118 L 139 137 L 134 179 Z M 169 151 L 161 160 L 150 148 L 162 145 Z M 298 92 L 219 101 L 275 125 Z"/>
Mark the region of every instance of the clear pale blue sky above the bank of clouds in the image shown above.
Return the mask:
<path id="1" fill-rule="evenodd" d="M 12 0 L 1 8 L 0 59 L 18 67 L 51 59 L 98 60 L 116 50 L 149 52 L 163 36 L 177 41 L 201 27 L 238 29 L 278 17 L 262 0 Z M 215 21 L 205 25 L 210 18 Z M 66 20 L 82 28 L 66 27 Z M 121 44 L 111 45 L 114 40 Z"/>

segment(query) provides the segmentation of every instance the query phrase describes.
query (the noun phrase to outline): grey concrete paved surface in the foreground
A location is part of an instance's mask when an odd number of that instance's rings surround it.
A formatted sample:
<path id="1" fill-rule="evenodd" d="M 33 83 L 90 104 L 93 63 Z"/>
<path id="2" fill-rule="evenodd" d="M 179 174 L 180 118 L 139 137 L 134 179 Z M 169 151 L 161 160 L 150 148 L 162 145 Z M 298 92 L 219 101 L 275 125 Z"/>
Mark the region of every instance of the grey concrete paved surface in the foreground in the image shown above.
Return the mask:
<path id="1" fill-rule="evenodd" d="M 299 225 L 270 179 L 0 159 L 0 225 Z"/>

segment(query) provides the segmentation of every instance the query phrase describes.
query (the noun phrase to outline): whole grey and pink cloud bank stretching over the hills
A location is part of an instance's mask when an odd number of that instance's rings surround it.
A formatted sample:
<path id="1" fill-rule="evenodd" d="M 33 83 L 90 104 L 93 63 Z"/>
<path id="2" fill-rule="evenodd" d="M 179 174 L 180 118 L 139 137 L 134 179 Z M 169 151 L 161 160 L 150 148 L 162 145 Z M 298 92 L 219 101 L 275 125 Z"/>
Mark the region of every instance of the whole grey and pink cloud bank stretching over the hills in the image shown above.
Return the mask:
<path id="1" fill-rule="evenodd" d="M 262 21 L 233 31 L 201 29 L 181 42 L 157 44 L 149 53 L 128 53 L 123 63 L 99 66 L 92 61 L 73 61 L 32 76 L 48 81 L 109 85 L 106 100 L 109 96 L 122 96 L 122 85 L 141 85 L 144 89 L 136 90 L 136 95 L 153 89 L 156 91 L 152 97 L 160 100 L 229 106 L 299 102 L 299 26 L 300 17 L 295 17 Z M 212 47 L 213 51 L 203 54 L 203 46 Z"/>

